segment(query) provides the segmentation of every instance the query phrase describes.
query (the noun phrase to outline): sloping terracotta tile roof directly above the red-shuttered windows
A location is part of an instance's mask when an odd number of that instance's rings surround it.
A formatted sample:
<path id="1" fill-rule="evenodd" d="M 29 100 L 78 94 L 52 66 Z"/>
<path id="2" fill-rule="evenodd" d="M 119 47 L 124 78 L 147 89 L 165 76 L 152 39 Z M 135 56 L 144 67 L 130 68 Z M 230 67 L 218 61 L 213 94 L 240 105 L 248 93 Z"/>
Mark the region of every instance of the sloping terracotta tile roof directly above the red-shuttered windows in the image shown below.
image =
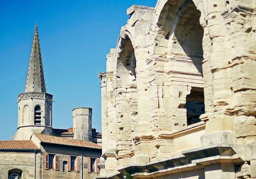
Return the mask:
<path id="1" fill-rule="evenodd" d="M 97 145 L 90 141 L 80 141 L 80 140 L 68 139 L 64 137 L 57 137 L 53 135 L 45 135 L 45 134 L 39 134 L 39 133 L 34 133 L 34 135 L 43 143 L 101 149 L 100 145 Z"/>

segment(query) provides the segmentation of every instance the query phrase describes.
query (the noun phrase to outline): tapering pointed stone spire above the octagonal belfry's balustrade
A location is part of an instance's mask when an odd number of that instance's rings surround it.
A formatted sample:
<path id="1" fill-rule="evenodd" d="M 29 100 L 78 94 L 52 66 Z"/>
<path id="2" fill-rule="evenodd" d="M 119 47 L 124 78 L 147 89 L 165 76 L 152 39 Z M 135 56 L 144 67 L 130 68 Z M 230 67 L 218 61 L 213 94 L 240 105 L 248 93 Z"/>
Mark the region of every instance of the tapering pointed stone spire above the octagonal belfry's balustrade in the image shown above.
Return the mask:
<path id="1" fill-rule="evenodd" d="M 37 24 L 35 26 L 35 33 L 28 66 L 25 93 L 26 92 L 46 92 Z"/>

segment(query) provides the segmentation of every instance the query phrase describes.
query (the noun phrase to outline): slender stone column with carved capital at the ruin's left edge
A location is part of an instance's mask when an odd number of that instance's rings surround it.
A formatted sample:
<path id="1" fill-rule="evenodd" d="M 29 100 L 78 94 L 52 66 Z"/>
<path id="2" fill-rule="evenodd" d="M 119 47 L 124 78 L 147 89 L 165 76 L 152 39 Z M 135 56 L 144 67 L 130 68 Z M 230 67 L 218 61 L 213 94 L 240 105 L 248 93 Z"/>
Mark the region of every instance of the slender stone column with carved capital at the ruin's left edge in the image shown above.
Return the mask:
<path id="1" fill-rule="evenodd" d="M 99 79 L 101 85 L 101 128 L 102 128 L 102 153 L 106 151 L 107 147 L 107 126 L 106 126 L 106 72 L 99 72 Z"/>

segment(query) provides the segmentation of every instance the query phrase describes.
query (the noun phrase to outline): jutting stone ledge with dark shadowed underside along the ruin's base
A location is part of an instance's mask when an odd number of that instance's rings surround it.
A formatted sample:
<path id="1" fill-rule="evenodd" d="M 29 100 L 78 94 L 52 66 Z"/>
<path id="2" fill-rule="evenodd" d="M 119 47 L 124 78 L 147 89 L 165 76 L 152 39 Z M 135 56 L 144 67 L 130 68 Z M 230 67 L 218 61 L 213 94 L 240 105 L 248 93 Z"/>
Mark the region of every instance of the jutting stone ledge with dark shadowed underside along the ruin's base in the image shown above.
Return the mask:
<path id="1" fill-rule="evenodd" d="M 137 178 L 139 176 L 157 176 L 169 173 L 178 173 L 181 171 L 204 168 L 207 163 L 237 163 L 243 160 L 236 156 L 232 147 L 238 147 L 228 144 L 214 144 L 200 148 L 183 151 L 182 154 L 161 159 L 155 162 L 143 164 L 131 164 L 117 169 L 118 174 L 112 174 L 106 178 L 123 178 L 126 173 L 130 173 Z M 202 164 L 201 164 L 202 163 Z"/>

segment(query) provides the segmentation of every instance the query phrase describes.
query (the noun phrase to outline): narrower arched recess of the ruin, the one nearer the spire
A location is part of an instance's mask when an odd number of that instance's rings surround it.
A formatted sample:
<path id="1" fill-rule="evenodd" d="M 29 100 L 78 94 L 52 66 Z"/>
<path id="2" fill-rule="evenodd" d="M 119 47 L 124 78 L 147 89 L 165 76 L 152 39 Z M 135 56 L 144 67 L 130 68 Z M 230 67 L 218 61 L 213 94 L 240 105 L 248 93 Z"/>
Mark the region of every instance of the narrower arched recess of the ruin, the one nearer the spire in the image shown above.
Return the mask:
<path id="1" fill-rule="evenodd" d="M 132 132 L 137 121 L 136 49 L 128 30 L 121 32 L 115 55 L 115 107 L 117 114 L 117 151 L 119 165 L 133 155 Z"/>

